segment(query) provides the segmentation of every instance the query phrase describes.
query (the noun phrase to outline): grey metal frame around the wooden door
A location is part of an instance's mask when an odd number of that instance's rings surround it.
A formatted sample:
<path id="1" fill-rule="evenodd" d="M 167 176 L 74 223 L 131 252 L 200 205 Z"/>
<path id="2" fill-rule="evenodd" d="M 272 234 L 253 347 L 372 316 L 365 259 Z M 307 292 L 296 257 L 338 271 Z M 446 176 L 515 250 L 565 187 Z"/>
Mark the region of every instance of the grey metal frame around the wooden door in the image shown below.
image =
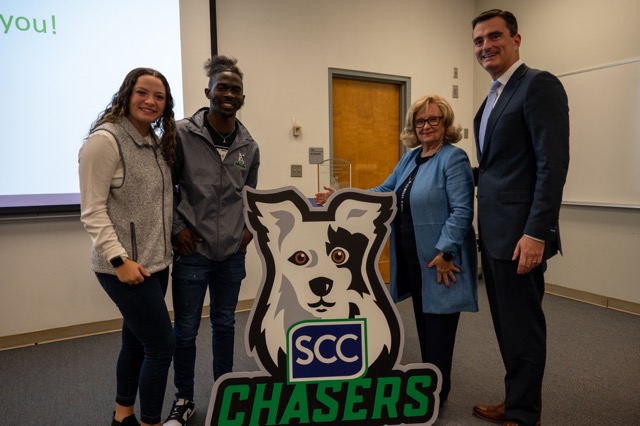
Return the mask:
<path id="1" fill-rule="evenodd" d="M 333 158 L 333 78 L 346 78 L 350 80 L 375 81 L 391 83 L 400 86 L 400 122 L 398 123 L 398 157 L 407 152 L 407 148 L 400 142 L 400 132 L 404 125 L 404 119 L 411 105 L 411 77 L 380 74 L 368 71 L 355 71 L 342 68 L 329 68 L 329 158 Z"/>

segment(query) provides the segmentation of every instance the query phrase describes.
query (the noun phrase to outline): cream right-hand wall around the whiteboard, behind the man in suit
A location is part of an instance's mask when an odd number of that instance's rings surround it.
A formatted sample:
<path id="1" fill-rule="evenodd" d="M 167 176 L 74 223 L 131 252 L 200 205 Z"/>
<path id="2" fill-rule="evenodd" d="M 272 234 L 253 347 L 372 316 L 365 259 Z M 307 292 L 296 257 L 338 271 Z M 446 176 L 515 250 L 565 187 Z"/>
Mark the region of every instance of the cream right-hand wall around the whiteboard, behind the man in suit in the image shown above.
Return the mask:
<path id="1" fill-rule="evenodd" d="M 478 0 L 475 4 L 476 13 L 502 8 L 516 15 L 522 35 L 520 57 L 534 68 L 563 74 L 640 57 L 637 0 Z M 476 63 L 474 109 L 484 100 L 490 82 Z M 594 108 L 616 107 L 598 105 L 597 91 L 593 101 Z M 571 140 L 572 145 L 601 144 L 602 149 L 610 149 L 610 142 Z M 640 278 L 634 267 L 640 253 L 640 209 L 563 206 L 560 230 L 564 256 L 549 262 L 548 283 L 640 303 Z"/>

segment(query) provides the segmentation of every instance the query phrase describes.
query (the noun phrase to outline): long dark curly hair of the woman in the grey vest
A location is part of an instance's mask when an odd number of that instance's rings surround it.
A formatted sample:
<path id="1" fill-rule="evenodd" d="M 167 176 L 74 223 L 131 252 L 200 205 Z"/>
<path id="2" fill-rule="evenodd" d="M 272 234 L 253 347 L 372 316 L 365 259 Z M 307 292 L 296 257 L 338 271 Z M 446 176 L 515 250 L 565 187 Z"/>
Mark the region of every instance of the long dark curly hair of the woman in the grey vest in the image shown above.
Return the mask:
<path id="1" fill-rule="evenodd" d="M 152 123 L 152 130 L 160 130 L 160 148 L 162 156 L 170 166 L 173 164 L 173 157 L 176 150 L 176 122 L 173 115 L 173 96 L 171 96 L 171 88 L 169 82 L 162 73 L 152 68 L 136 68 L 131 70 L 124 78 L 120 89 L 113 95 L 111 102 L 107 108 L 102 111 L 96 121 L 91 124 L 89 133 L 93 132 L 98 126 L 104 123 L 114 123 L 122 117 L 129 116 L 129 101 L 133 87 L 136 85 L 138 78 L 143 75 L 150 75 L 160 79 L 167 92 L 166 103 L 162 115 Z"/>

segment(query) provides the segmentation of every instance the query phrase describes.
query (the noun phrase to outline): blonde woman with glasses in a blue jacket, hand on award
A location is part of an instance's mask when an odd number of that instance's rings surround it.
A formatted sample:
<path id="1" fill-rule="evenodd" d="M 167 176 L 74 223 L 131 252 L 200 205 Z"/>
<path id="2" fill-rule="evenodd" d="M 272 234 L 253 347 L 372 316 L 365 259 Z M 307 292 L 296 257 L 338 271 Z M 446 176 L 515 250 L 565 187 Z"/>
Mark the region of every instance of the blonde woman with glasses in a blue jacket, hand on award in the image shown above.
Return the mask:
<path id="1" fill-rule="evenodd" d="M 391 293 L 396 302 L 412 297 L 422 362 L 442 372 L 441 405 L 451 390 L 460 312 L 478 311 L 473 174 L 467 154 L 452 145 L 462 138 L 454 119 L 444 98 L 416 100 L 400 134 L 411 150 L 371 189 L 396 193 Z M 325 190 L 316 194 L 319 205 L 334 192 Z"/>

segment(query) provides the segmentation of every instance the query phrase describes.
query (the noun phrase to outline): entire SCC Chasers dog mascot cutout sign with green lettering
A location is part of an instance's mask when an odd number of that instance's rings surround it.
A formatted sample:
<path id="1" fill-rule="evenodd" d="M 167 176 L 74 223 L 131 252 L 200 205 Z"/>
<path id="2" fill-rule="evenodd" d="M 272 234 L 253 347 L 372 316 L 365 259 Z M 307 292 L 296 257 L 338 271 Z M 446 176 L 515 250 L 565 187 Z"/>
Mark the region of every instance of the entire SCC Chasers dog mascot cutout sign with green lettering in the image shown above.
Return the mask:
<path id="1" fill-rule="evenodd" d="M 207 425 L 431 425 L 440 371 L 399 364 L 404 331 L 378 271 L 395 194 L 245 189 L 263 280 L 246 331 L 257 372 L 213 387 Z"/>

